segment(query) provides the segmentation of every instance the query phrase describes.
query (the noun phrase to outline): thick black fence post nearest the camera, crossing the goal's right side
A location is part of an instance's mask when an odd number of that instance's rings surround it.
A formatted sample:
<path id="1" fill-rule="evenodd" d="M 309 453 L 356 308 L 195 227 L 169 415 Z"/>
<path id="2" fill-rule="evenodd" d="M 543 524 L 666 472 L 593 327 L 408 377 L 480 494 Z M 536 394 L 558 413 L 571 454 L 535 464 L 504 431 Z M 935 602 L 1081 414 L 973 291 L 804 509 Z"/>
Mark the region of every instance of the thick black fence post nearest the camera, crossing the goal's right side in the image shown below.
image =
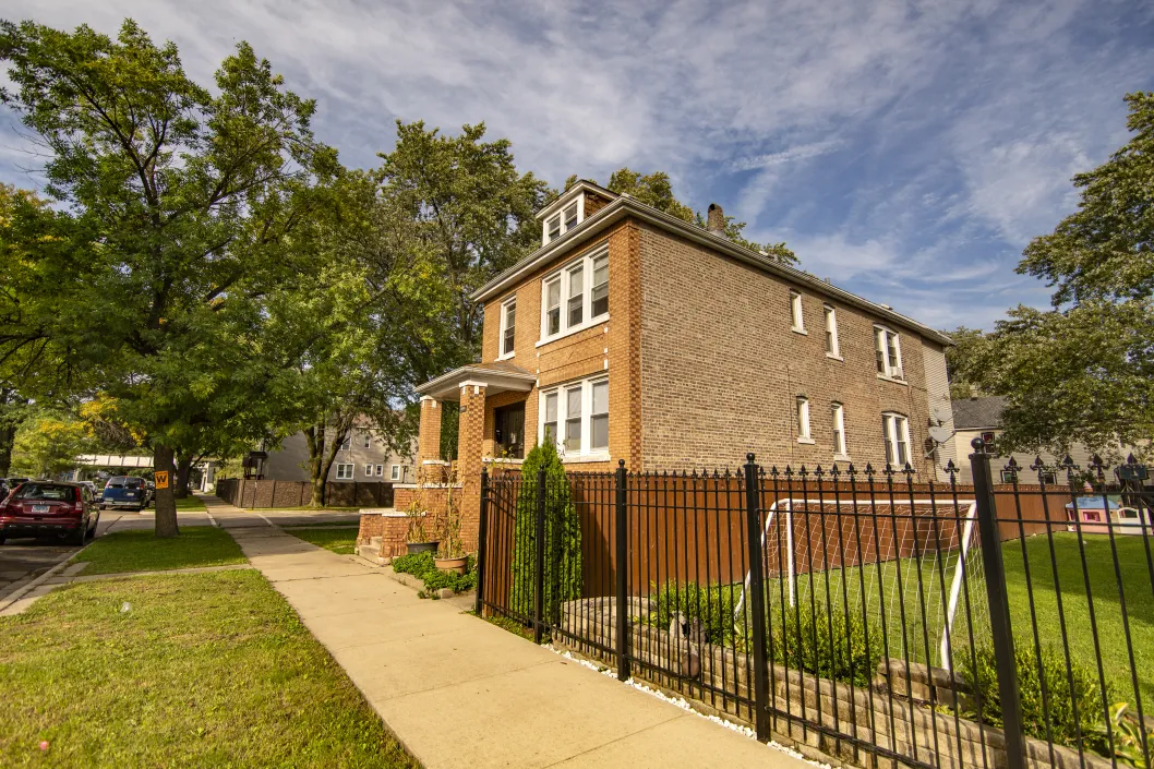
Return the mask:
<path id="1" fill-rule="evenodd" d="M 977 533 L 982 543 L 982 567 L 986 570 L 986 596 L 990 602 L 990 630 L 994 657 L 997 660 L 998 699 L 1005 724 L 1006 766 L 1024 769 L 1026 742 L 1021 732 L 1021 707 L 1018 701 L 1018 670 L 1014 662 L 1013 632 L 1010 627 L 1010 600 L 1006 596 L 1005 567 L 1002 562 L 1002 537 L 995 513 L 994 476 L 986 443 L 975 438 L 969 464 L 974 473 L 974 501 L 977 506 Z"/>

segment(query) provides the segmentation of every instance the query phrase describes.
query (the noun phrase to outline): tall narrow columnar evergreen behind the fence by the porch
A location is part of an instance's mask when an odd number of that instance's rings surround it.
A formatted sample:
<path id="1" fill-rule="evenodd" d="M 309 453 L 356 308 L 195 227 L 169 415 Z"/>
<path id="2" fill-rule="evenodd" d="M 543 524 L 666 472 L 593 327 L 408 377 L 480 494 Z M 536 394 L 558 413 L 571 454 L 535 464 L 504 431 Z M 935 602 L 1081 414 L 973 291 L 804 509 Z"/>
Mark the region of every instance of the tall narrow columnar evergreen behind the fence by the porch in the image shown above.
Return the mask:
<path id="1" fill-rule="evenodd" d="M 533 447 L 520 465 L 509 606 L 529 617 L 535 607 L 537 487 L 541 469 L 546 490 L 544 611 L 546 617 L 557 617 L 562 603 L 582 595 L 582 552 L 580 521 L 570 498 L 565 466 L 553 441 Z"/>

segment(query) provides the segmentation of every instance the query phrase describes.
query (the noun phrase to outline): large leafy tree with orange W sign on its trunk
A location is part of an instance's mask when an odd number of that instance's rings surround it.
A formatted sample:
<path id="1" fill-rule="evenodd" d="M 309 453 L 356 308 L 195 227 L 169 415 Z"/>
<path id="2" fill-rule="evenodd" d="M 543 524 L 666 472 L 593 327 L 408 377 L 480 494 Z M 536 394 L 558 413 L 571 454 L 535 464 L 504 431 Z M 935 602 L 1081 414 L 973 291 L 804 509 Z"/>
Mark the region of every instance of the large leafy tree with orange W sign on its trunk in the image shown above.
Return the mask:
<path id="1" fill-rule="evenodd" d="M 200 85 L 132 21 L 114 39 L 2 22 L 0 60 L 0 98 L 43 145 L 59 202 L 18 201 L 0 244 L 24 255 L 3 276 L 0 361 L 39 350 L 22 387 L 51 366 L 73 393 L 107 394 L 173 469 L 182 441 L 278 381 L 264 305 L 307 289 L 315 266 L 288 236 L 336 170 L 314 103 L 246 43 Z M 177 532 L 170 487 L 156 533 Z"/>

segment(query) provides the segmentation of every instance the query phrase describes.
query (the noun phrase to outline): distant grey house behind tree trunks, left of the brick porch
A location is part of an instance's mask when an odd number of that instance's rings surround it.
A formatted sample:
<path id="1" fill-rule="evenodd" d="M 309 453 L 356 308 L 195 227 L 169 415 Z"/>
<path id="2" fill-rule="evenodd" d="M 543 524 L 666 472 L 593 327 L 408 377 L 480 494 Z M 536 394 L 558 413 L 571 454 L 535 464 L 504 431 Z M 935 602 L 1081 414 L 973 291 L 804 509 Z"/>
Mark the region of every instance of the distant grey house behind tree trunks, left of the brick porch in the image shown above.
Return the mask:
<path id="1" fill-rule="evenodd" d="M 308 480 L 308 441 L 305 433 L 290 435 L 279 449 L 269 451 L 262 476 L 269 480 Z M 365 426 L 353 428 L 329 469 L 329 480 L 409 483 L 413 478 L 413 457 L 389 451 L 374 436 L 374 431 Z"/>

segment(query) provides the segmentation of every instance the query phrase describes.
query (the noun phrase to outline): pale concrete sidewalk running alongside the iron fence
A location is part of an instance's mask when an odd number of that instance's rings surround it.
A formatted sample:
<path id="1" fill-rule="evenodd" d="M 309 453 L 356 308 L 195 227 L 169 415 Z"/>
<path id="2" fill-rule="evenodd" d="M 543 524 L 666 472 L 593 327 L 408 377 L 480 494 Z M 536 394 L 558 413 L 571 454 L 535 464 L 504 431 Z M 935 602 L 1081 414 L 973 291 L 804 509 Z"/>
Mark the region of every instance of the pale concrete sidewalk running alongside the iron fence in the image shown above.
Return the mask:
<path id="1" fill-rule="evenodd" d="M 804 762 L 205 498 L 426 769 Z"/>

